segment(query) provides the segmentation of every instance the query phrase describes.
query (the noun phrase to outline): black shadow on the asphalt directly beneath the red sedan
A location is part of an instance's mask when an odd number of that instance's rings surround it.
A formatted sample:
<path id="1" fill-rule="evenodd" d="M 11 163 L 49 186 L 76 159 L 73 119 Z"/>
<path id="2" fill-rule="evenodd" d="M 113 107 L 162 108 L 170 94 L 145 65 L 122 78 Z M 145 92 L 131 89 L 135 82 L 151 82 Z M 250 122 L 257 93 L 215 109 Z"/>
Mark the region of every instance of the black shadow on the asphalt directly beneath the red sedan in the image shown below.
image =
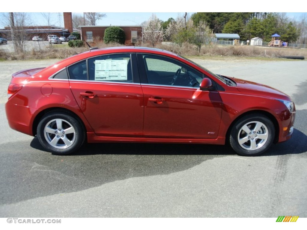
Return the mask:
<path id="1" fill-rule="evenodd" d="M 45 151 L 35 137 L 30 146 Z M 273 144 L 268 151 L 260 156 L 299 154 L 307 151 L 307 136 L 294 129 L 290 140 Z M 151 144 L 151 143 L 85 143 L 76 152 L 69 156 L 77 155 L 236 155 L 229 144 Z M 52 155 L 56 155 L 53 154 Z M 68 156 L 68 155 L 67 155 Z"/>

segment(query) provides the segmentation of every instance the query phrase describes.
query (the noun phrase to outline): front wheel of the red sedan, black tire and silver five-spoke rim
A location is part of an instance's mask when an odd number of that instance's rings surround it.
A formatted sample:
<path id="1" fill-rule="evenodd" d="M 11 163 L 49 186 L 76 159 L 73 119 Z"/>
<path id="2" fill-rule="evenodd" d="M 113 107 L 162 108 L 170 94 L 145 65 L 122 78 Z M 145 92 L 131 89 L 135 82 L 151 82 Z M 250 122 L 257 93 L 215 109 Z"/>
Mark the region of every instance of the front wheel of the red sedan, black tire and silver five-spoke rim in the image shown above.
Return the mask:
<path id="1" fill-rule="evenodd" d="M 232 126 L 229 143 L 238 155 L 256 156 L 270 148 L 274 137 L 274 124 L 268 117 L 249 114 Z"/>

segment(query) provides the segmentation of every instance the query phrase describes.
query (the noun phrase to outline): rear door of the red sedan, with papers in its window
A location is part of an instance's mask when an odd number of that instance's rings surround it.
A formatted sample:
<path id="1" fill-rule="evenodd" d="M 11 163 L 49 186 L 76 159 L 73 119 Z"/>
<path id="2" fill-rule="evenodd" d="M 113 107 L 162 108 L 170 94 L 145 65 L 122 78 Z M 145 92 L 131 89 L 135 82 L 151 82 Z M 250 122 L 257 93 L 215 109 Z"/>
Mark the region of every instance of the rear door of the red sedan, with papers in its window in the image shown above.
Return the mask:
<path id="1" fill-rule="evenodd" d="M 135 54 L 112 54 L 68 67 L 72 93 L 96 135 L 142 136 L 144 98 L 135 60 Z"/>

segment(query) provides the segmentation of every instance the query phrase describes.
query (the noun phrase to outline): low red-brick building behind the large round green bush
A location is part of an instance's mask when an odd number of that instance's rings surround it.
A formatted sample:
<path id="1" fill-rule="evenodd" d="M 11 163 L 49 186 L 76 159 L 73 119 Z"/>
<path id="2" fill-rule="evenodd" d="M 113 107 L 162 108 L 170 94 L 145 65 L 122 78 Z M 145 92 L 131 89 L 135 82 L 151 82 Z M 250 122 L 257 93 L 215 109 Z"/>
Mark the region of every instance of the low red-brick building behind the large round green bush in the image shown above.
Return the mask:
<path id="1" fill-rule="evenodd" d="M 84 41 L 93 41 L 94 38 L 103 40 L 104 31 L 111 26 L 88 25 L 80 26 L 81 39 Z M 142 26 L 121 25 L 126 35 L 125 45 L 133 45 L 137 38 L 142 38 Z"/>

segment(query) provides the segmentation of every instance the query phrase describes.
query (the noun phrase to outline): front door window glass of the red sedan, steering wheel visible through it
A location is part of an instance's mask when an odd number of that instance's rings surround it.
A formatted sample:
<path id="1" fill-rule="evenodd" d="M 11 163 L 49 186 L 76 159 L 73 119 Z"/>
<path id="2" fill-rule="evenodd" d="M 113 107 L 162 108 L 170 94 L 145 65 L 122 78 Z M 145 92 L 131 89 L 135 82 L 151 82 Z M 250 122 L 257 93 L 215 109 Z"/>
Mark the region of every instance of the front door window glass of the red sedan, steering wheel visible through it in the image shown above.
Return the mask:
<path id="1" fill-rule="evenodd" d="M 149 84 L 198 87 L 202 74 L 174 59 L 143 55 Z"/>

